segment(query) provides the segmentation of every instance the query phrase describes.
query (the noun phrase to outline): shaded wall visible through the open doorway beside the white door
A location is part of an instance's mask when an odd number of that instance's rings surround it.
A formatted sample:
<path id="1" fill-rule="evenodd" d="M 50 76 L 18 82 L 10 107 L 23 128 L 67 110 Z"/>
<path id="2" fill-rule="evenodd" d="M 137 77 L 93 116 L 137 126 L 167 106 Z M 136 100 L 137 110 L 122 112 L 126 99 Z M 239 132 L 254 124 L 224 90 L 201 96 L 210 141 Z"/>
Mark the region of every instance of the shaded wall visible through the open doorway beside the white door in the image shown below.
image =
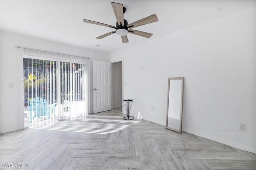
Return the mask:
<path id="1" fill-rule="evenodd" d="M 113 108 L 121 107 L 123 102 L 122 61 L 112 64 Z"/>

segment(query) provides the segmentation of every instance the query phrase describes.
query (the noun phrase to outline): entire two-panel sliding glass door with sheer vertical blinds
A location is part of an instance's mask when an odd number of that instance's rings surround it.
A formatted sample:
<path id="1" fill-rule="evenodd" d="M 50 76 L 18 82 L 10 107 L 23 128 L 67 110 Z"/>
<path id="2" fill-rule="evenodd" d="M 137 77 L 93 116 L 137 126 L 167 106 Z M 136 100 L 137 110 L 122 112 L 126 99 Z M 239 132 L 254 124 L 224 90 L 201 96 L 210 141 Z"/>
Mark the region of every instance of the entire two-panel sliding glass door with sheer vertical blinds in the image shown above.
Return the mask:
<path id="1" fill-rule="evenodd" d="M 23 55 L 24 127 L 88 113 L 88 62 Z"/>

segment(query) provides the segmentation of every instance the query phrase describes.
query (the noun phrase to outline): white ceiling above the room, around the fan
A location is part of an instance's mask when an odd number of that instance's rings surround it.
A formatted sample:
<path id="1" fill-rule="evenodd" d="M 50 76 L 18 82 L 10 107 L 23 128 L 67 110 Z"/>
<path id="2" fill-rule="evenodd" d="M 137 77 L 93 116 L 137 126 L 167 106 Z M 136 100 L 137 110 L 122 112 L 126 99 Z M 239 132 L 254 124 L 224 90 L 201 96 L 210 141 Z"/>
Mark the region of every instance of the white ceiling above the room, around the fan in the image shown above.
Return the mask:
<path id="1" fill-rule="evenodd" d="M 115 25 L 116 18 L 110 2 L 126 7 L 124 19 L 128 23 L 156 14 L 158 22 L 136 27 L 136 30 L 154 35 L 147 39 L 128 34 L 129 43 L 125 44 L 117 34 L 95 39 L 114 29 L 84 23 L 83 19 Z M 255 0 L 1 0 L 0 29 L 112 53 L 255 6 Z"/>

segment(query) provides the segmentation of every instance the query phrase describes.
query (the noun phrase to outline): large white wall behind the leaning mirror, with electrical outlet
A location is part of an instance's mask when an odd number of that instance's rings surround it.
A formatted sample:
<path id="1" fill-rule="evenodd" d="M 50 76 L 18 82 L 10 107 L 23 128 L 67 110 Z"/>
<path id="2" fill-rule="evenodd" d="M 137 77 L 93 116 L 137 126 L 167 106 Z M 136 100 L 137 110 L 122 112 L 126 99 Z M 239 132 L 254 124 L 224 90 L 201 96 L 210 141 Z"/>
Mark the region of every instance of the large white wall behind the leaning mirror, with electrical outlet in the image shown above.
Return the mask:
<path id="1" fill-rule="evenodd" d="M 142 119 L 165 125 L 168 77 L 184 77 L 182 130 L 256 152 L 256 8 L 112 53 L 110 59 L 120 56 L 124 98 L 134 99 L 131 115 L 140 112 Z M 246 131 L 239 123 L 246 123 Z"/>

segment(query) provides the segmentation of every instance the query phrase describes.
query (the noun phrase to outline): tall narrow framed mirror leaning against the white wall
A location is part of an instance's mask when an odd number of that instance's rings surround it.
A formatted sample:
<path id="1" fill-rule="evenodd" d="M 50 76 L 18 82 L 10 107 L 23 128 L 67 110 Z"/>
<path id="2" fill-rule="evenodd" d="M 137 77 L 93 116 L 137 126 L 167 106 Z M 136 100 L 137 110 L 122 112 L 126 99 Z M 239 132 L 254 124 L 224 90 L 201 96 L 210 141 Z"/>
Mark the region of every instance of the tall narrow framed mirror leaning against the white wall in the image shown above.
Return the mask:
<path id="1" fill-rule="evenodd" d="M 168 78 L 166 129 L 181 133 L 184 77 Z"/>

